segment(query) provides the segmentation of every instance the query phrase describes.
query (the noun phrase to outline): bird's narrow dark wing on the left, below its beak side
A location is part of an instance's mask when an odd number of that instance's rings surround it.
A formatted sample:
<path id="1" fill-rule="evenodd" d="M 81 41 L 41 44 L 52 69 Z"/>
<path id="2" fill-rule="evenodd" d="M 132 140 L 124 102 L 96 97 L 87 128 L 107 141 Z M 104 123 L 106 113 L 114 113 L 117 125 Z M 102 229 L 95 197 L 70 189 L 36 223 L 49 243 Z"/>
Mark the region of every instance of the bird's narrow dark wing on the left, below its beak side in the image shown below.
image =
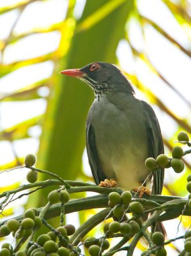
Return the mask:
<path id="1" fill-rule="evenodd" d="M 96 184 L 100 184 L 100 181 L 105 180 L 106 177 L 102 172 L 100 167 L 100 162 L 98 159 L 98 153 L 96 151 L 95 145 L 95 133 L 90 122 L 87 120 L 86 123 L 86 149 L 89 159 L 89 165 L 91 167 L 91 172 Z"/>

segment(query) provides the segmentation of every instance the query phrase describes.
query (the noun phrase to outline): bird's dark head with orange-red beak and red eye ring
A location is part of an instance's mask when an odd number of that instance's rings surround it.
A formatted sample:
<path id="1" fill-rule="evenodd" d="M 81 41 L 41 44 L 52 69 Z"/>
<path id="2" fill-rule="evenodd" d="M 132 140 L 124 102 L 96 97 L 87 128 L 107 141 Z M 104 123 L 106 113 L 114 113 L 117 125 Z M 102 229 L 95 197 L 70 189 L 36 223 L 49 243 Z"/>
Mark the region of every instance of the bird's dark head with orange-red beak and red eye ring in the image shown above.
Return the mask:
<path id="1" fill-rule="evenodd" d="M 63 70 L 60 73 L 85 81 L 91 86 L 96 95 L 102 96 L 102 94 L 111 91 L 134 94 L 134 89 L 126 79 L 126 76 L 111 63 L 98 61 L 82 68 Z"/>

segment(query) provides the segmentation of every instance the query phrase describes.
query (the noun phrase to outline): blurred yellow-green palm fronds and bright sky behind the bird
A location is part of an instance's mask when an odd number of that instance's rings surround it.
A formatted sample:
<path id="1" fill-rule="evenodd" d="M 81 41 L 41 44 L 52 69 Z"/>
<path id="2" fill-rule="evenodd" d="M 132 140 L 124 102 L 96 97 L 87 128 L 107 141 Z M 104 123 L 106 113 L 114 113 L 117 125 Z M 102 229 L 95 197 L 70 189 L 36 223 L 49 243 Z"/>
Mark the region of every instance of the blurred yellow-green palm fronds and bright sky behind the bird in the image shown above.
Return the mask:
<path id="1" fill-rule="evenodd" d="M 81 81 L 59 75 L 93 61 L 118 65 L 137 97 L 153 106 L 165 153 L 171 156 L 178 132 L 191 134 L 190 13 L 188 0 L 1 1 L 1 170 L 23 164 L 32 153 L 38 168 L 63 179 L 93 182 L 85 124 L 94 95 Z M 165 172 L 164 195 L 187 195 L 191 161 L 189 156 L 184 160 L 183 173 Z M 0 189 L 23 183 L 24 171 L 2 173 Z M 38 206 L 46 195 L 41 191 L 31 199 Z M 15 213 L 17 207 L 6 211 Z M 88 214 L 81 213 L 80 221 Z M 183 218 L 180 230 L 188 225 L 190 218 Z"/>

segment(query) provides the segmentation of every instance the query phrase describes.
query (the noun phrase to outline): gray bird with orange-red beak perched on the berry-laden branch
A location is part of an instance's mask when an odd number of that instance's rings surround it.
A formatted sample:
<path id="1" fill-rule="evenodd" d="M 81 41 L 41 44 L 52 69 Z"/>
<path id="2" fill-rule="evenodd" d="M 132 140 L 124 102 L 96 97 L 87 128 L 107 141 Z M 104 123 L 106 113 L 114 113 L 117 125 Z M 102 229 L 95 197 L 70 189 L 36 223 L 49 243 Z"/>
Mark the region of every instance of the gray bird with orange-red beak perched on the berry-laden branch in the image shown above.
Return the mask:
<path id="1" fill-rule="evenodd" d="M 86 120 L 86 149 L 96 184 L 129 191 L 142 186 L 145 193 L 160 195 L 164 168 L 149 175 L 145 166 L 148 157 L 164 153 L 153 108 L 137 99 L 125 74 L 111 63 L 97 61 L 60 73 L 88 83 L 95 93 Z"/>

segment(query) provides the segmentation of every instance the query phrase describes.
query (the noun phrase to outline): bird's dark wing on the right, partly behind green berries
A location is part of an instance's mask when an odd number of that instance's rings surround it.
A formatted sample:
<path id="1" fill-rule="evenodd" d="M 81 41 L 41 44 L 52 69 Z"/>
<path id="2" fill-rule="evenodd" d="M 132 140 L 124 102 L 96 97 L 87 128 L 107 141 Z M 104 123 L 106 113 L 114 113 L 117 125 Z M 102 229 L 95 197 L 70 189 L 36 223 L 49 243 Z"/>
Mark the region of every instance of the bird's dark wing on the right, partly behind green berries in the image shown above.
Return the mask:
<path id="1" fill-rule="evenodd" d="M 162 140 L 162 134 L 160 131 L 160 125 L 158 124 L 157 116 L 155 112 L 147 104 L 144 104 L 145 115 L 146 115 L 146 127 L 148 131 L 148 143 L 149 143 L 149 157 L 157 158 L 158 155 L 164 154 L 164 143 Z M 153 188 L 152 193 L 160 195 L 162 193 L 164 182 L 164 168 L 157 170 L 153 174 Z"/>

